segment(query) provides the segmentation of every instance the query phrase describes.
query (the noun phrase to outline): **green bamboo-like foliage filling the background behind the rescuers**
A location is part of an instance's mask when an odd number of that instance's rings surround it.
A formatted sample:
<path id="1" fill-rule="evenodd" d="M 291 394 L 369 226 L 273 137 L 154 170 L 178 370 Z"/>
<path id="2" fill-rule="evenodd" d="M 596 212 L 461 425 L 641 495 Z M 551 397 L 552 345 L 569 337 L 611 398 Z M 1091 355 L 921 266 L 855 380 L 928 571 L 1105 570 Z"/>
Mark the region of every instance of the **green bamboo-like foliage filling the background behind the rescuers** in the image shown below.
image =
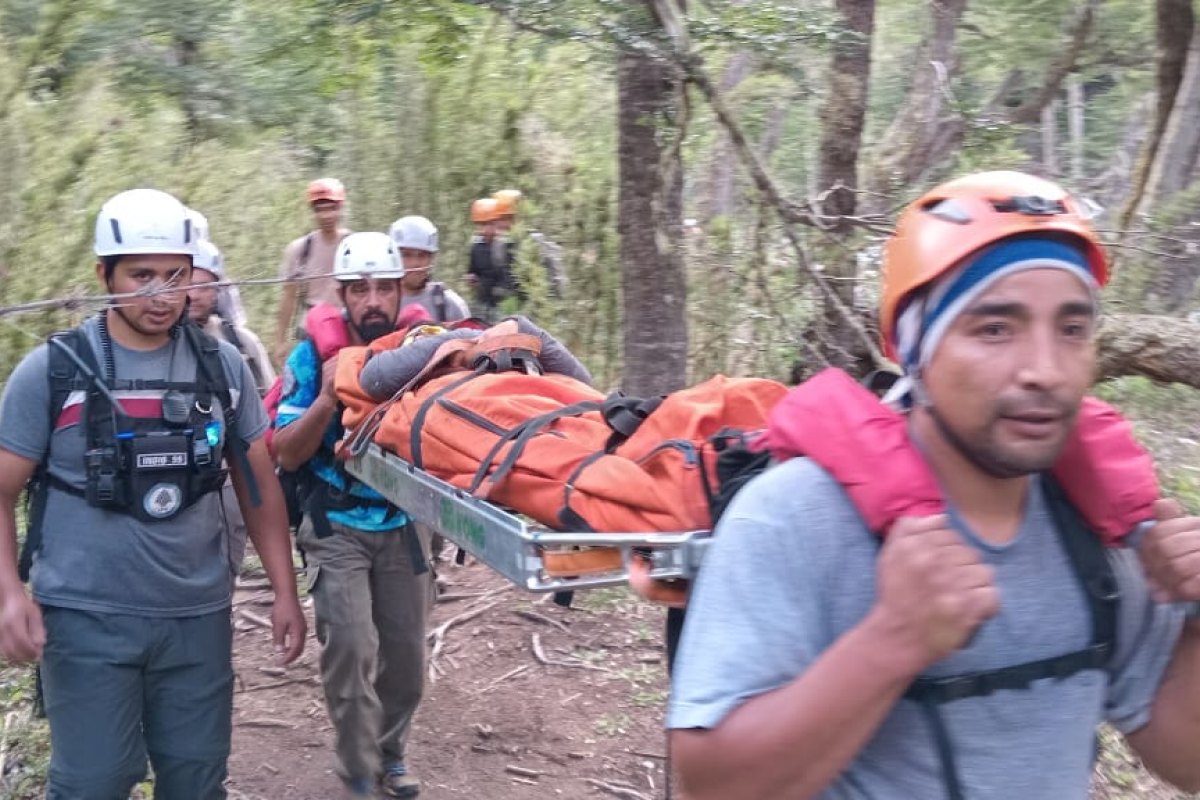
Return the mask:
<path id="1" fill-rule="evenodd" d="M 804 198 L 820 154 L 817 109 L 830 47 L 848 34 L 817 0 L 689 4 L 689 35 L 719 79 L 738 53 L 749 73 L 726 102 L 784 193 Z M 1040 85 L 1063 47 L 1070 8 L 1054 0 L 971 4 L 960 67 L 944 88 L 966 119 L 954 170 L 1030 167 L 1039 144 L 1003 112 Z M 929 4 L 878 4 L 868 152 L 904 106 Z M 512 24 L 515 20 L 515 25 Z M 570 288 L 532 293 L 532 311 L 588 363 L 619 383 L 620 285 L 614 187 L 616 47 L 665 48 L 656 20 L 624 0 L 0 0 L 0 291 L 5 302 L 92 293 L 91 221 L 134 185 L 204 211 L 236 277 L 276 273 L 283 245 L 310 225 L 304 184 L 319 174 L 350 191 L 348 223 L 385 229 L 402 213 L 442 229 L 438 276 L 461 283 L 473 227 L 467 207 L 521 188 L 521 222 L 563 247 Z M 1086 172 L 1109 167 L 1134 100 L 1153 85 L 1147 4 L 1100 4 L 1081 64 L 1088 94 Z M 186 56 L 186 58 L 185 58 Z M 1019 70 L 1010 96 L 996 90 Z M 11 102 L 5 102 L 11 97 Z M 691 378 L 782 378 L 809 350 L 820 312 L 808 272 L 740 169 L 734 207 L 708 218 L 720 126 L 695 92 L 683 142 L 684 242 L 691 281 Z M 1061 120 L 1064 126 L 1064 119 Z M 773 145 L 768 145 L 773 142 Z M 866 166 L 863 164 L 862 169 Z M 907 187 L 905 196 L 920 187 Z M 894 207 L 894 199 L 889 203 Z M 857 258 L 863 236 L 827 246 L 797 233 L 826 265 Z M 521 264 L 528 282 L 530 257 Z M 530 285 L 533 285 L 530 283 Z M 859 300 L 869 302 L 871 287 Z M 278 290 L 246 288 L 253 325 L 272 329 Z M 0 318 L 0 375 L 46 332 L 89 309 Z"/>

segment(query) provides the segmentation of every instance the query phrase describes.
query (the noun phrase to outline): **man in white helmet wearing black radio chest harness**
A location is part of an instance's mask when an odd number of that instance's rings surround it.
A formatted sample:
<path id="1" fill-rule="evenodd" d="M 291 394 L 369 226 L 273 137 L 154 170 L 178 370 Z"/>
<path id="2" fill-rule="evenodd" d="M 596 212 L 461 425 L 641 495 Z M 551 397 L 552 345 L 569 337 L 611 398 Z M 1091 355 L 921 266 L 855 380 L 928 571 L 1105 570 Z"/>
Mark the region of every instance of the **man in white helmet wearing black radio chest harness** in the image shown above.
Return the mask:
<path id="1" fill-rule="evenodd" d="M 181 324 L 194 254 L 179 200 L 113 197 L 96 219 L 96 275 L 118 299 L 25 356 L 0 398 L 0 658 L 41 658 L 47 798 L 126 798 L 148 757 L 155 796 L 226 796 L 226 467 L 275 590 L 281 661 L 304 649 L 266 415 L 238 351 Z"/>

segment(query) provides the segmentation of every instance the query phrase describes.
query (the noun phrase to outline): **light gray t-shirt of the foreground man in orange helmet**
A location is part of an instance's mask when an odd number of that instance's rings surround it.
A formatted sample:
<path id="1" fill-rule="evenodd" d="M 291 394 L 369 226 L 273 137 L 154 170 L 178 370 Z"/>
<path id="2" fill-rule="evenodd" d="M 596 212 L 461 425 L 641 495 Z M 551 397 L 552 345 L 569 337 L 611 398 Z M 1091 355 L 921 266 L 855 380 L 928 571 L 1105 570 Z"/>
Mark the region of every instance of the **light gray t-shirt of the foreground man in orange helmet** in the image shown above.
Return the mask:
<path id="1" fill-rule="evenodd" d="M 1040 488 L 1030 492 L 1021 529 L 1006 546 L 974 537 L 953 509 L 950 518 L 996 570 L 1001 610 L 930 675 L 994 669 L 1088 644 L 1091 615 Z M 722 516 L 692 588 L 667 726 L 713 728 L 746 699 L 802 674 L 870 610 L 877 547 L 841 487 L 814 462 L 792 459 L 751 481 Z M 1153 603 L 1132 551 L 1112 551 L 1111 558 L 1121 610 L 1110 680 L 1081 672 L 941 706 L 970 800 L 1084 799 L 1097 724 L 1108 720 L 1129 733 L 1148 721 L 1183 613 Z M 946 796 L 940 770 L 922 710 L 900 700 L 820 796 L 936 800 Z"/>

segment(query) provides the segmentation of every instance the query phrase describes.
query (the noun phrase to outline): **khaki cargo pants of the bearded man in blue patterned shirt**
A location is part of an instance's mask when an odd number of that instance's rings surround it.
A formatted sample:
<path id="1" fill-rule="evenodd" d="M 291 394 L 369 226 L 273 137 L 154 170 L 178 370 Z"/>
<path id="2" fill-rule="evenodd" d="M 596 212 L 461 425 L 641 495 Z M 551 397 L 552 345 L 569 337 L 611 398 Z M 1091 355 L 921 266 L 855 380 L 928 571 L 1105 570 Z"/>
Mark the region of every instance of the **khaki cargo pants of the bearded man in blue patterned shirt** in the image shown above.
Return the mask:
<path id="1" fill-rule="evenodd" d="M 331 528 L 332 536 L 318 539 L 305 516 L 296 535 L 308 560 L 325 708 L 341 776 L 374 778 L 404 760 L 425 688 L 430 571 L 415 573 L 413 534 L 403 528 Z"/>

